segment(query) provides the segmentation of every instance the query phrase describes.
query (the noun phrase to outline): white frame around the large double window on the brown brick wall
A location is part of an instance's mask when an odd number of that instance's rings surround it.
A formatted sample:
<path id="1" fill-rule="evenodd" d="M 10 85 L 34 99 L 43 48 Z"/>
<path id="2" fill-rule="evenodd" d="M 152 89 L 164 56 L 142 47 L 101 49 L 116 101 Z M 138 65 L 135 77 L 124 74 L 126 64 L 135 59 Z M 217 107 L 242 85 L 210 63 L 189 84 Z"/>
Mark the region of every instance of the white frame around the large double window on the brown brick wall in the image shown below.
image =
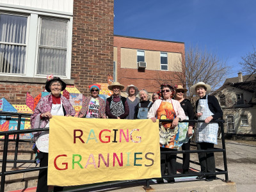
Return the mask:
<path id="1" fill-rule="evenodd" d="M 0 73 L 0 76 L 8 77 L 35 77 L 35 78 L 45 78 L 47 75 L 36 74 L 36 67 L 38 65 L 38 38 L 39 38 L 39 19 L 40 17 L 68 20 L 67 24 L 67 55 L 66 55 L 66 74 L 65 76 L 58 76 L 62 79 L 71 78 L 71 60 L 72 60 L 72 23 L 73 16 L 70 13 L 53 13 L 51 11 L 44 12 L 44 10 L 21 10 L 18 8 L 6 8 L 4 11 L 0 11 L 7 15 L 20 15 L 26 16 L 27 28 L 26 28 L 26 56 L 25 56 L 25 66 L 24 74 L 10 74 L 10 73 Z M 57 75 L 56 75 L 57 76 Z"/>

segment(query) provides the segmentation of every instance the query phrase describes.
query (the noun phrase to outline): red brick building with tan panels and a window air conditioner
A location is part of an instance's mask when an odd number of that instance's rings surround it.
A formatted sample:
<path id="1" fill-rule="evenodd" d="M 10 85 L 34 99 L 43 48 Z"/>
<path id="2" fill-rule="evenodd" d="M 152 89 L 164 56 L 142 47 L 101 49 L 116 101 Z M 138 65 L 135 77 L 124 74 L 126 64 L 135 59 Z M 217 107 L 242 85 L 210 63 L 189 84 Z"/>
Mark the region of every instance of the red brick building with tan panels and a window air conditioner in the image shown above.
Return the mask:
<path id="1" fill-rule="evenodd" d="M 114 35 L 114 79 L 150 93 L 159 90 L 160 83 L 180 84 L 184 49 L 182 42 Z"/>

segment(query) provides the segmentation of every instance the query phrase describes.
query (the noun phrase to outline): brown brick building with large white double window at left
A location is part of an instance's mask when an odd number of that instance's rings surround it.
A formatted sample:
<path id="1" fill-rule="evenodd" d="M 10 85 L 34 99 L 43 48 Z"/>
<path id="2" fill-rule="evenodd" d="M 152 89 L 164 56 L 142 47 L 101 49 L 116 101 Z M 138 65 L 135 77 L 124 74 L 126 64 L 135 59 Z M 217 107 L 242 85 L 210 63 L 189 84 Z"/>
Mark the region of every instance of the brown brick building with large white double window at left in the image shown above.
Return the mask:
<path id="1" fill-rule="evenodd" d="M 26 104 L 60 76 L 79 92 L 113 74 L 114 0 L 0 0 L 0 98 Z"/>

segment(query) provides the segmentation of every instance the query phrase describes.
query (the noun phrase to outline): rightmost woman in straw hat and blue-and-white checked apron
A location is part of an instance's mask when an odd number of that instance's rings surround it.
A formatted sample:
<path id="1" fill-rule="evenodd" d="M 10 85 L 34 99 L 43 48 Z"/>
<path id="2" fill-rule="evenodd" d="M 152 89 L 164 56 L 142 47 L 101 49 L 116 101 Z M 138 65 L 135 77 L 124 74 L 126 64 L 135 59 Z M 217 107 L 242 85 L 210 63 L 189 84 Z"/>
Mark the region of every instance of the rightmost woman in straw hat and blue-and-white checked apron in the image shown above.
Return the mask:
<path id="1" fill-rule="evenodd" d="M 218 123 L 211 123 L 211 120 L 218 120 L 223 116 L 220 104 L 216 97 L 207 95 L 211 92 L 211 86 L 204 82 L 199 82 L 190 88 L 193 94 L 200 97 L 196 101 L 196 118 L 204 120 L 204 123 L 196 124 L 196 145 L 198 150 L 207 150 L 217 145 Z M 201 172 L 215 172 L 215 159 L 213 152 L 200 152 L 198 158 L 201 166 Z M 204 175 L 196 177 L 196 179 L 204 179 Z M 215 175 L 206 176 L 207 181 L 216 179 Z"/>

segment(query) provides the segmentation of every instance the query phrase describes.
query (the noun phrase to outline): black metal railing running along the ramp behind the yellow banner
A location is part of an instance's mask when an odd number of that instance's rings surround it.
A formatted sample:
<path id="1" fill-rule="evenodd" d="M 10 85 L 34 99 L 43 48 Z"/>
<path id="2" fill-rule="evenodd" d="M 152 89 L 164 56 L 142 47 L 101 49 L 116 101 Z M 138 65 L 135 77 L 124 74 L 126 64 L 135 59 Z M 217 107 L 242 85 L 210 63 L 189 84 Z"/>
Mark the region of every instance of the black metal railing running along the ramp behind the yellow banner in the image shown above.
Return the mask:
<path id="1" fill-rule="evenodd" d="M 13 168 L 17 167 L 17 163 L 31 163 L 33 162 L 32 160 L 17 160 L 17 154 L 18 154 L 18 148 L 19 148 L 19 142 L 25 142 L 24 140 L 19 139 L 19 134 L 25 134 L 25 133 L 31 133 L 31 132 L 38 132 L 38 131 L 49 131 L 49 128 L 42 128 L 42 129 L 26 129 L 26 130 L 20 130 L 20 122 L 21 122 L 21 117 L 28 117 L 30 116 L 29 114 L 26 113 L 4 113 L 0 112 L 0 116 L 7 116 L 7 118 L 12 118 L 12 116 L 18 116 L 18 126 L 17 126 L 17 131 L 4 131 L 0 132 L 0 136 L 4 136 L 4 148 L 3 148 L 3 160 L 2 160 L 2 171 L 0 173 L 1 175 L 1 188 L 0 192 L 4 191 L 4 182 L 5 182 L 5 177 L 6 175 L 13 175 L 17 173 L 25 173 L 25 172 L 35 172 L 38 170 L 43 170 L 47 169 L 47 166 L 44 167 L 38 167 L 38 168 L 27 168 L 26 170 L 11 170 L 6 172 L 6 164 L 8 162 L 13 162 Z M 159 120 L 160 122 L 172 122 L 172 120 Z M 182 122 L 204 122 L 203 120 L 184 120 Z M 186 153 L 198 153 L 198 152 L 222 152 L 223 153 L 223 164 L 224 164 L 224 170 L 216 168 L 216 172 L 207 172 L 207 173 L 189 173 L 189 176 L 198 176 L 198 175 L 223 175 L 225 174 L 225 182 L 228 182 L 228 170 L 227 170 L 227 155 L 226 155 L 226 147 L 225 147 L 225 137 L 224 137 L 224 129 L 223 129 L 223 123 L 224 120 L 214 120 L 211 121 L 210 123 L 218 123 L 221 127 L 221 140 L 222 140 L 222 148 L 213 148 L 209 150 L 172 150 L 168 152 L 161 152 L 163 154 L 186 154 Z M 13 140 L 9 140 L 9 136 L 14 135 Z M 16 136 L 16 137 L 15 137 Z M 7 159 L 7 153 L 8 153 L 8 143 L 9 141 L 14 141 L 15 142 L 15 156 L 14 159 Z M 191 163 L 199 164 L 198 162 L 195 161 L 190 161 Z M 163 175 L 162 178 L 168 178 L 168 177 L 185 177 L 188 176 L 186 174 L 175 174 L 175 175 Z M 149 180 L 150 179 L 143 179 L 145 180 L 145 189 L 150 189 L 150 184 Z M 108 182 L 104 184 L 97 184 L 97 186 L 87 186 L 79 189 L 70 189 L 68 191 L 83 191 L 83 190 L 90 190 L 90 189 L 97 189 L 97 188 L 102 188 L 102 187 L 109 187 L 109 186 L 115 186 L 117 184 L 127 184 L 128 182 L 138 182 L 138 180 L 125 180 L 125 181 L 116 181 L 116 182 Z"/>

